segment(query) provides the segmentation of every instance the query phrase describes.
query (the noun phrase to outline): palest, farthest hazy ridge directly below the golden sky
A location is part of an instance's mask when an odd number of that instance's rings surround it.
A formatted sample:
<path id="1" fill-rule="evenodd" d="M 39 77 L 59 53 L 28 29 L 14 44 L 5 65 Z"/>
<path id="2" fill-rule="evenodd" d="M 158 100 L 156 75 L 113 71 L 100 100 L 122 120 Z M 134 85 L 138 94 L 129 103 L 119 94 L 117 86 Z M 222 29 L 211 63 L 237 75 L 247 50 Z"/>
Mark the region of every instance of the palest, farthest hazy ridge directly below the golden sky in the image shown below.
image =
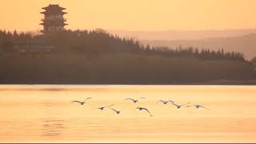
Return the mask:
<path id="1" fill-rule="evenodd" d="M 111 34 L 132 37 L 138 40 L 195 40 L 203 38 L 226 38 L 245 34 L 256 34 L 256 29 L 245 30 L 165 30 L 165 31 L 128 31 L 108 30 Z"/>

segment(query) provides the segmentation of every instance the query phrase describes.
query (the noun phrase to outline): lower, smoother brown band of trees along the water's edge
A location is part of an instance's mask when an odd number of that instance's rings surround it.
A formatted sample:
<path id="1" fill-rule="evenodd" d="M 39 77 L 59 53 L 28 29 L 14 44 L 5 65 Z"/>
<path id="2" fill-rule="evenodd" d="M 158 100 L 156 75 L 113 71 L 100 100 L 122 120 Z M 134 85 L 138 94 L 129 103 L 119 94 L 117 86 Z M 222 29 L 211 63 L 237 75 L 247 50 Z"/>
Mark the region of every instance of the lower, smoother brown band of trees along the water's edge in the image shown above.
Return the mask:
<path id="1" fill-rule="evenodd" d="M 250 63 L 148 54 L 0 57 L 2 84 L 190 84 L 254 77 Z"/>

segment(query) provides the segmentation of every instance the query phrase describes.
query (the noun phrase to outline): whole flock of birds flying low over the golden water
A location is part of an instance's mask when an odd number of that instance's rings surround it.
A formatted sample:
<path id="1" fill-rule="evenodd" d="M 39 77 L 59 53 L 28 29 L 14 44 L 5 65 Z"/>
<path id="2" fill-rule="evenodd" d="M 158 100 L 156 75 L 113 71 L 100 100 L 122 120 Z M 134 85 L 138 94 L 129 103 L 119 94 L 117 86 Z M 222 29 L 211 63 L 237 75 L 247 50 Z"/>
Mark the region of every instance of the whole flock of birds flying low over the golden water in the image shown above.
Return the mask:
<path id="1" fill-rule="evenodd" d="M 130 100 L 131 102 L 136 103 L 136 102 L 138 102 L 139 99 L 142 99 L 142 98 L 144 98 L 144 97 L 137 98 L 137 99 L 134 99 L 134 98 L 126 98 L 126 99 L 124 99 L 124 100 Z M 90 98 L 86 98 L 86 100 L 84 100 L 83 102 L 80 102 L 80 101 L 72 101 L 72 102 L 78 102 L 78 103 L 80 103 L 80 105 L 84 105 L 88 99 L 90 99 Z M 206 107 L 201 106 L 201 105 L 189 105 L 191 102 L 186 103 L 186 104 L 183 104 L 183 105 L 178 105 L 178 104 L 176 104 L 174 101 L 171 101 L 171 100 L 168 100 L 168 101 L 159 100 L 158 102 L 162 102 L 162 104 L 164 104 L 164 105 L 166 105 L 167 103 L 170 103 L 171 105 L 175 106 L 177 109 L 180 109 L 182 106 L 183 106 L 183 107 L 191 107 L 191 106 L 193 106 L 193 107 L 195 107 L 195 108 L 197 108 L 197 109 L 201 107 L 201 108 L 203 108 L 203 109 L 209 110 L 209 109 L 207 109 Z M 157 102 L 157 103 L 158 103 L 158 102 Z M 115 109 L 112 108 L 111 106 L 114 106 L 114 104 L 112 104 L 112 105 L 110 105 L 110 106 L 98 107 L 97 109 L 98 109 L 98 110 L 104 110 L 105 108 L 109 108 L 110 110 L 113 110 L 116 114 L 120 114 L 121 111 L 124 109 L 124 107 L 123 107 L 121 110 L 115 110 Z M 135 110 L 137 110 L 137 109 L 138 109 L 138 110 L 146 110 L 146 111 L 150 114 L 150 116 L 153 116 L 153 115 L 150 113 L 150 110 L 146 109 L 145 107 L 136 107 Z"/>

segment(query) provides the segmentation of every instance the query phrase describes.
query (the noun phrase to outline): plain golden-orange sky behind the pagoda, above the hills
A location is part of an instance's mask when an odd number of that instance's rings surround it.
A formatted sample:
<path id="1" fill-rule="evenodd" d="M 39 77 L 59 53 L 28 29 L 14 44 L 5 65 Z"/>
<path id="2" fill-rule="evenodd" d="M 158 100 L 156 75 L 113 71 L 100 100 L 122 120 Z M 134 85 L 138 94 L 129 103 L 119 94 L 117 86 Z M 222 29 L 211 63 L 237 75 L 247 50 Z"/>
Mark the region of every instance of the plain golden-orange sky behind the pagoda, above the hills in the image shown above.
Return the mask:
<path id="1" fill-rule="evenodd" d="M 226 30 L 256 27 L 256 0 L 0 0 L 0 29 L 41 30 L 41 8 L 66 7 L 67 29 Z"/>

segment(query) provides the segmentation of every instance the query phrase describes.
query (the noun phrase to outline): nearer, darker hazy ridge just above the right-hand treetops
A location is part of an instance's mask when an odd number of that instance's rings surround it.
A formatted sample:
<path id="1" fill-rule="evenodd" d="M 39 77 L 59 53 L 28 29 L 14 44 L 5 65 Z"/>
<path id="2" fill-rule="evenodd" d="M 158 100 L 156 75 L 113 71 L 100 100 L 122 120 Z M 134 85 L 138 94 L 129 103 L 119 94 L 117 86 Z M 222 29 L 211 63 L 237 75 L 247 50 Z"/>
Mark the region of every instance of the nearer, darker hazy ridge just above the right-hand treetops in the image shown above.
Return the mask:
<path id="1" fill-rule="evenodd" d="M 245 58 L 248 60 L 256 56 L 256 33 L 229 38 L 205 38 L 198 40 L 142 40 L 142 43 L 144 45 L 149 43 L 151 46 L 168 46 L 172 49 L 178 46 L 193 46 L 198 47 L 199 50 L 206 48 L 210 50 L 239 51 L 245 54 Z"/>

